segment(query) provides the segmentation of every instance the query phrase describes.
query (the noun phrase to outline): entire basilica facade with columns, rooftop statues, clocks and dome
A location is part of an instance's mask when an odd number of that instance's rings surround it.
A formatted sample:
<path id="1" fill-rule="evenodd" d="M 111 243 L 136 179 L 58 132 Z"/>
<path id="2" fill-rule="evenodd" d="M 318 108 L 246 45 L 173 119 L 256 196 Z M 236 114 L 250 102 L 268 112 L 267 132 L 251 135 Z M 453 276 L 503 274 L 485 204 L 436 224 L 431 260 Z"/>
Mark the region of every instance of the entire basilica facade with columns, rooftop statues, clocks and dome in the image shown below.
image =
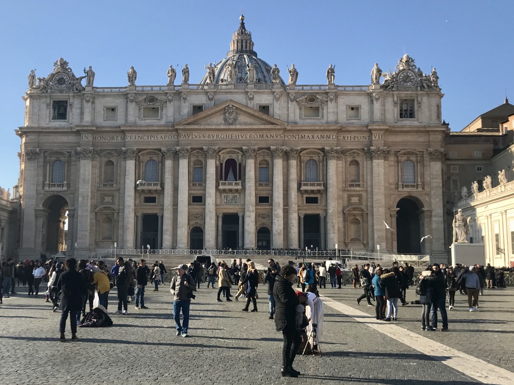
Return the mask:
<path id="1" fill-rule="evenodd" d="M 446 260 L 448 126 L 435 70 L 427 76 L 405 55 L 383 82 L 375 65 L 371 85 L 340 86 L 332 66 L 317 85 L 301 85 L 297 68 L 284 82 L 241 20 L 226 59 L 198 84 L 187 69 L 175 85 L 171 68 L 167 85 L 140 86 L 131 69 L 127 86 L 97 87 L 89 68 L 83 86 L 63 59 L 29 79 L 16 131 L 21 258 L 87 256 L 116 242 L 379 247 Z"/>

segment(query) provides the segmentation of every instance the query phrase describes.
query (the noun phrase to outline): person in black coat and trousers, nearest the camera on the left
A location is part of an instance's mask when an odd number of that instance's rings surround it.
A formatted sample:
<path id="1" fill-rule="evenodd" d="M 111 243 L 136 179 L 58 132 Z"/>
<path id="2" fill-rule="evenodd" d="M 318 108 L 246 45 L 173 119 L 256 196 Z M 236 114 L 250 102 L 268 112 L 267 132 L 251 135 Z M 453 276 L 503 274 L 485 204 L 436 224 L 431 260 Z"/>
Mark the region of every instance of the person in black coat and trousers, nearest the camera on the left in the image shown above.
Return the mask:
<path id="1" fill-rule="evenodd" d="M 57 287 L 61 291 L 61 304 L 59 305 L 59 308 L 62 310 L 59 323 L 60 339 L 66 339 L 64 337 L 64 330 L 69 314 L 71 339 L 78 340 L 77 312 L 82 309 L 83 296 L 87 294 L 87 288 L 82 274 L 77 271 L 77 260 L 75 258 L 67 259 L 65 267 L 66 271 L 59 276 L 59 282 L 57 282 Z"/>

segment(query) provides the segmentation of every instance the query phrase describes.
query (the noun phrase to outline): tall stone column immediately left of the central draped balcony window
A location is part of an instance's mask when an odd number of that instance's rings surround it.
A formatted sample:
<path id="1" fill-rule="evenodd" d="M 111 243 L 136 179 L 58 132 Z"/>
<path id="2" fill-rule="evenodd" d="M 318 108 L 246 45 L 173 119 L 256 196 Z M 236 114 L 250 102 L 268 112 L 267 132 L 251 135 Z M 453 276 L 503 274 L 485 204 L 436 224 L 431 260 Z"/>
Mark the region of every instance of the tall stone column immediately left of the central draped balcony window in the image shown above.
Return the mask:
<path id="1" fill-rule="evenodd" d="M 205 242 L 207 249 L 216 248 L 216 156 L 217 147 L 204 147 L 207 157 L 205 174 Z"/>

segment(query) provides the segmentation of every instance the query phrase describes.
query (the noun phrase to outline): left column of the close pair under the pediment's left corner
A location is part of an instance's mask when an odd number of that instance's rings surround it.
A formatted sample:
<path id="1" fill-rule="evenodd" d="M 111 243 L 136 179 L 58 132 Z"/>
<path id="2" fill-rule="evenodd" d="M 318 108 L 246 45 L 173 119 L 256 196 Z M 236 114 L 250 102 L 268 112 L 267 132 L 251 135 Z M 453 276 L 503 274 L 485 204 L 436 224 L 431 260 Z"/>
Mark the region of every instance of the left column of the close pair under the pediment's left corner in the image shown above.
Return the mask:
<path id="1" fill-rule="evenodd" d="M 174 200 L 174 157 L 175 148 L 161 148 L 164 156 L 164 207 L 162 218 L 162 248 L 173 247 L 173 200 Z"/>

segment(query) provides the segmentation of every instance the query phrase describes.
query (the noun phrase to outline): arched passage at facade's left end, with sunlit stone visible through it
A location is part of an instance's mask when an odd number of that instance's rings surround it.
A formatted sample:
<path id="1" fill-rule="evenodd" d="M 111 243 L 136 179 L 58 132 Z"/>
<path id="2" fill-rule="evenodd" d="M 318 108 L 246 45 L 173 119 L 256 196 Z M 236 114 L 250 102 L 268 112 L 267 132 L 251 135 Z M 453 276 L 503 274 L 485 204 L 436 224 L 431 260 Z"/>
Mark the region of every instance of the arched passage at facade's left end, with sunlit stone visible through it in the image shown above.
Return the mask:
<path id="1" fill-rule="evenodd" d="M 68 217 L 68 201 L 60 195 L 52 195 L 43 203 L 41 223 L 41 249 L 52 255 L 66 251 L 65 228 Z M 71 249 L 71 247 L 70 247 Z"/>

